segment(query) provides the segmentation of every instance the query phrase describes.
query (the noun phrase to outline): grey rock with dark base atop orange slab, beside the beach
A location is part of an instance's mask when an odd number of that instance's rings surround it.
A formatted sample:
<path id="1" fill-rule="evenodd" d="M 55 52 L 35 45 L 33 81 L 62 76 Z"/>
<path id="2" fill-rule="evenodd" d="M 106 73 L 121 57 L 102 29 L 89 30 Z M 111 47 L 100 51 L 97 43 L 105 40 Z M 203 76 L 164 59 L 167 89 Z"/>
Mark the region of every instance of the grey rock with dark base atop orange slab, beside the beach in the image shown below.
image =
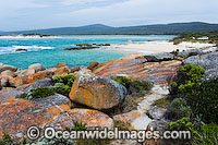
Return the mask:
<path id="1" fill-rule="evenodd" d="M 160 61 L 169 61 L 174 59 L 174 55 L 169 52 L 160 52 L 160 53 L 153 53 L 149 56 L 144 56 L 147 62 L 160 62 Z"/>

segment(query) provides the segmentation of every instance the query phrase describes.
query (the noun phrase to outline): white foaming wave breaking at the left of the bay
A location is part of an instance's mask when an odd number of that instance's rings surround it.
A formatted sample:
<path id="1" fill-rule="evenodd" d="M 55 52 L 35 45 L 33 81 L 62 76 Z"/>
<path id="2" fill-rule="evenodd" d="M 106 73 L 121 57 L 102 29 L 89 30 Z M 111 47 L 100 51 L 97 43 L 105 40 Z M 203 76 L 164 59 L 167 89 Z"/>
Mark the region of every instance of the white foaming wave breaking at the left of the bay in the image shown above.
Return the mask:
<path id="1" fill-rule="evenodd" d="M 44 46 L 10 46 L 10 47 L 0 47 L 0 55 L 2 53 L 14 53 L 17 49 L 25 49 L 27 51 L 40 51 L 45 49 L 53 49 L 53 47 L 44 47 Z"/>

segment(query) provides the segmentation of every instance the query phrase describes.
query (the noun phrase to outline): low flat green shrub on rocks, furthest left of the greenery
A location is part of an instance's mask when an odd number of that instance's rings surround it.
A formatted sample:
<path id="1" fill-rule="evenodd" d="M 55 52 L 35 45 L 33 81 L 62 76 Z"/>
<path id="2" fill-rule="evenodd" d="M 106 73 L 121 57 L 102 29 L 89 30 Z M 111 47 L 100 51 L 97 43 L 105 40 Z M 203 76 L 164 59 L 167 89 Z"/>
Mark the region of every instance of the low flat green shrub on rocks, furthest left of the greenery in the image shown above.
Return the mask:
<path id="1" fill-rule="evenodd" d="M 46 98 L 51 95 L 55 95 L 55 90 L 48 87 L 38 87 L 36 89 L 31 89 L 28 93 L 22 94 L 21 98 L 23 99 L 36 99 L 36 98 Z"/>

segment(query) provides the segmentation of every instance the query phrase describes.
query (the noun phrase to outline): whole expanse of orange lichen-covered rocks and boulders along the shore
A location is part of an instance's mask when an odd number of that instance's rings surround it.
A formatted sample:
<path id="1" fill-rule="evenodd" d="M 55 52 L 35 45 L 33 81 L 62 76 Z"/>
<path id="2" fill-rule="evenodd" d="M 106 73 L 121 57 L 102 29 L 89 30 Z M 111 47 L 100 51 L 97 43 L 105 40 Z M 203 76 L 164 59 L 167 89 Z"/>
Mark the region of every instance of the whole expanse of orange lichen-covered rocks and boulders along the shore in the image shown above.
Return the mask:
<path id="1" fill-rule="evenodd" d="M 217 48 L 205 48 L 149 56 L 132 53 L 105 63 L 90 62 L 83 69 L 71 69 L 64 62 L 50 69 L 36 63 L 26 70 L 0 63 L 0 138 L 1 132 L 13 138 L 23 138 L 32 125 L 41 130 L 47 126 L 65 130 L 73 128 L 75 122 L 86 124 L 87 129 L 113 129 L 118 122 L 125 122 L 133 130 L 161 130 L 167 124 L 162 119 L 166 109 L 152 104 L 167 97 L 170 78 L 182 64 L 187 63 L 203 67 L 205 78 L 216 77 L 217 58 Z M 23 97 L 32 89 L 52 87 L 56 76 L 69 74 L 76 75 L 76 78 L 68 95 L 55 93 L 44 98 Z M 129 95 L 125 86 L 111 80 L 117 76 L 149 81 L 155 87 L 150 94 L 141 97 L 135 110 L 116 114 Z"/>

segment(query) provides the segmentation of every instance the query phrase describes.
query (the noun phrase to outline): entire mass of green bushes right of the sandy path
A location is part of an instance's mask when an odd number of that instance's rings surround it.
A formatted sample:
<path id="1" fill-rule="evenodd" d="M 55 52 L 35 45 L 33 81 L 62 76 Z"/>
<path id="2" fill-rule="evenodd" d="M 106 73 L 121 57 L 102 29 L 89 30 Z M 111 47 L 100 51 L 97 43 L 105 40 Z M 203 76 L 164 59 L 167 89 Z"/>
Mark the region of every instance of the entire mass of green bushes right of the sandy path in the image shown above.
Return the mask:
<path id="1" fill-rule="evenodd" d="M 168 106 L 168 117 L 177 121 L 170 122 L 168 130 L 191 131 L 194 145 L 218 143 L 218 77 L 204 81 L 204 73 L 198 65 L 184 65 L 170 85 L 174 99 Z"/>

